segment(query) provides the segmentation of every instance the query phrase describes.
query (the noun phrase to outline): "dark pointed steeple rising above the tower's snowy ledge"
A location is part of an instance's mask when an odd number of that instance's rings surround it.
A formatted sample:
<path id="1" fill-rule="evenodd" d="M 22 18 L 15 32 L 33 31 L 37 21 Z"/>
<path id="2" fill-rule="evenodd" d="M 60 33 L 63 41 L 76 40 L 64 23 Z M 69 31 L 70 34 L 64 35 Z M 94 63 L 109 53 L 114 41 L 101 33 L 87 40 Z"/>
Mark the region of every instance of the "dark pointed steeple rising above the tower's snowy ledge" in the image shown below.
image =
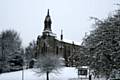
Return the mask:
<path id="1" fill-rule="evenodd" d="M 44 32 L 52 32 L 51 24 L 52 24 L 52 21 L 51 21 L 49 9 L 48 9 L 47 16 L 45 17 L 45 21 L 44 21 Z"/>

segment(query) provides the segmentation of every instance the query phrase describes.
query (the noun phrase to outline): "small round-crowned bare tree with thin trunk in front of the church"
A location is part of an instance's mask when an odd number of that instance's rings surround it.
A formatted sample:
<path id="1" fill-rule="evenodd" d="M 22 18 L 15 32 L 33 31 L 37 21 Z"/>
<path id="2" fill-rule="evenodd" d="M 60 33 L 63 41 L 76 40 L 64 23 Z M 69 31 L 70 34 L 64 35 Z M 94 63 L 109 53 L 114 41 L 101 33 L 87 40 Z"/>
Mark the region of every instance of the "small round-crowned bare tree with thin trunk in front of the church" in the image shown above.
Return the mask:
<path id="1" fill-rule="evenodd" d="M 42 55 L 35 64 L 35 72 L 38 74 L 46 73 L 46 80 L 49 80 L 49 73 L 58 72 L 62 68 L 63 62 L 56 55 Z"/>

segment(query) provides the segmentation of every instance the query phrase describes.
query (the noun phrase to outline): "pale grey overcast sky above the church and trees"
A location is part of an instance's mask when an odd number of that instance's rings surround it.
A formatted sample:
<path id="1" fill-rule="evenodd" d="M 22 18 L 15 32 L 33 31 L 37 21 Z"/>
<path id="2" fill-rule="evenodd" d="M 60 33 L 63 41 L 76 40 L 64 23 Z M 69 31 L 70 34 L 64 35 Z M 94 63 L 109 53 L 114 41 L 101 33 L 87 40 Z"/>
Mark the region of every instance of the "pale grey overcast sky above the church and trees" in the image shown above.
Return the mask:
<path id="1" fill-rule="evenodd" d="M 0 0 L 0 31 L 14 29 L 23 45 L 42 34 L 47 9 L 50 9 L 52 31 L 64 39 L 81 42 L 92 29 L 91 16 L 103 19 L 118 7 L 119 0 Z"/>

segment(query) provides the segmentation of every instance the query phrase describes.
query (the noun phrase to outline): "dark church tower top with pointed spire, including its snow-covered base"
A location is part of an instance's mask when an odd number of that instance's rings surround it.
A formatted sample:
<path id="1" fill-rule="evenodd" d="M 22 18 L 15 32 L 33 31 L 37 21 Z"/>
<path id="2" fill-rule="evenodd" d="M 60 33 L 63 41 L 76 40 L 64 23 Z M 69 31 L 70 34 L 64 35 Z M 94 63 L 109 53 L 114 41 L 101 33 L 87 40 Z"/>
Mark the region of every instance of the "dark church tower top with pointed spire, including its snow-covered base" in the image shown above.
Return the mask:
<path id="1" fill-rule="evenodd" d="M 52 34 L 51 24 L 52 24 L 52 21 L 51 21 L 49 9 L 48 9 L 47 16 L 45 17 L 45 21 L 44 21 L 43 36 Z"/>

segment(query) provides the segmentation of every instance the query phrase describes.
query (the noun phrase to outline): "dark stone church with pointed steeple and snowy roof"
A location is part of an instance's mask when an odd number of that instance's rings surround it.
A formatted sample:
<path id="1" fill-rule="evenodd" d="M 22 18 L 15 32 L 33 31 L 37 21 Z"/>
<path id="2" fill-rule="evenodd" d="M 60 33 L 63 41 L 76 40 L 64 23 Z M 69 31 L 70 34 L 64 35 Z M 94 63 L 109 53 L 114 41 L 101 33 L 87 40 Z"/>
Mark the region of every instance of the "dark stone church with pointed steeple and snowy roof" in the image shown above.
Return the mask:
<path id="1" fill-rule="evenodd" d="M 40 54 L 53 54 L 59 55 L 65 59 L 66 66 L 74 66 L 74 55 L 79 52 L 81 46 L 74 44 L 74 42 L 65 42 L 63 39 L 63 33 L 61 30 L 60 40 L 52 32 L 51 29 L 52 20 L 50 17 L 49 9 L 44 20 L 44 30 L 42 35 L 37 38 L 37 53 L 35 57 Z"/>

